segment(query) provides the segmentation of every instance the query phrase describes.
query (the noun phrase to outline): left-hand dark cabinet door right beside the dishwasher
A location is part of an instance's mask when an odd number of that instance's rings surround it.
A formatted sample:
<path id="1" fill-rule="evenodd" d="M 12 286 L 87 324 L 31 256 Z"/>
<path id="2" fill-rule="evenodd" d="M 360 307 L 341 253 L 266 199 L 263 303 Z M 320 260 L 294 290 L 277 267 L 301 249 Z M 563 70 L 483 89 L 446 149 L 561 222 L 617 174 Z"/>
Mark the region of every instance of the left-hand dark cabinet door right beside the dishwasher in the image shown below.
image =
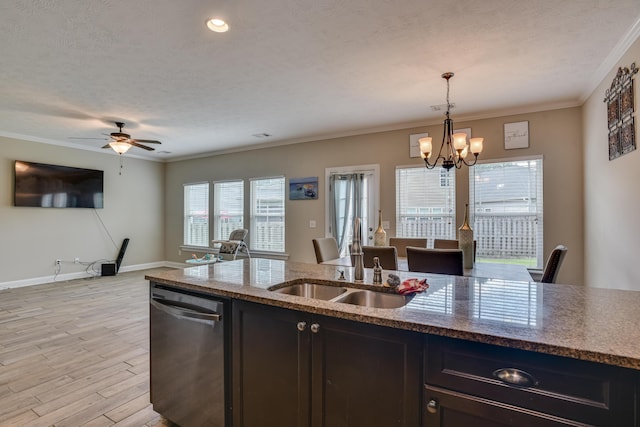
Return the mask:
<path id="1" fill-rule="evenodd" d="M 235 426 L 309 425 L 311 342 L 308 331 L 298 330 L 309 319 L 292 310 L 233 302 Z"/>

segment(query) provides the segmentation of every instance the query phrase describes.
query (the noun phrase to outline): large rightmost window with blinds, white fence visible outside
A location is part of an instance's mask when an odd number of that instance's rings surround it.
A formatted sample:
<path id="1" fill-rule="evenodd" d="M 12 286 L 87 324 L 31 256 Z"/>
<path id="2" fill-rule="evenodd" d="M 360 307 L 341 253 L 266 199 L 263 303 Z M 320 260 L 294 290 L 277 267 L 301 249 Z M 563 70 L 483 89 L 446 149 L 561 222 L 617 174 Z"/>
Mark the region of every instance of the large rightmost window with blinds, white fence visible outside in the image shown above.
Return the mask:
<path id="1" fill-rule="evenodd" d="M 476 259 L 543 268 L 542 158 L 469 168 Z"/>

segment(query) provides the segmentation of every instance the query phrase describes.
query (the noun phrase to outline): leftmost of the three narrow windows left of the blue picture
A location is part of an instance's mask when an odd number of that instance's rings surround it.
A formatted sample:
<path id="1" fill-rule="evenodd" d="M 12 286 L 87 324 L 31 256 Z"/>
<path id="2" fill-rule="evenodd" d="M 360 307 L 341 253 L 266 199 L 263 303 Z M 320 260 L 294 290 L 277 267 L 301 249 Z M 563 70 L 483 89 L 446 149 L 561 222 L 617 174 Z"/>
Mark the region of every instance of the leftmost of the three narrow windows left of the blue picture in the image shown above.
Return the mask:
<path id="1" fill-rule="evenodd" d="M 184 244 L 209 246 L 209 183 L 184 186 Z"/>

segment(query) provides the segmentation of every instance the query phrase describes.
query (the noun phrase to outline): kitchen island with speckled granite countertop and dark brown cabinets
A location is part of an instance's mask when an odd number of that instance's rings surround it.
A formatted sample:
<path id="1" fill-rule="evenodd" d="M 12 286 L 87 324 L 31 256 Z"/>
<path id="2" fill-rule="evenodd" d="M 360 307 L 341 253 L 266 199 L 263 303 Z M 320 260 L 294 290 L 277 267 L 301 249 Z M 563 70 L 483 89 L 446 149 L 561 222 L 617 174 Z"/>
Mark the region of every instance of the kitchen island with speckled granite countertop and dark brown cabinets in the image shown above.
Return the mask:
<path id="1" fill-rule="evenodd" d="M 340 270 L 345 271 L 344 281 L 337 280 Z M 370 269 L 365 269 L 360 284 L 352 280 L 350 267 L 266 259 L 191 267 L 149 275 L 147 279 L 231 302 L 232 369 L 228 371 L 233 372 L 231 400 L 236 427 L 259 422 L 271 425 L 264 419 L 252 421 L 250 414 L 255 410 L 248 407 L 260 402 L 245 393 L 249 386 L 255 392 L 255 387 L 269 381 L 273 388 L 271 392 L 266 388 L 264 393 L 272 399 L 267 396 L 263 400 L 270 404 L 254 409 L 265 411 L 287 400 L 296 409 L 292 415 L 296 421 L 291 425 L 366 425 L 355 423 L 355 415 L 350 421 L 345 415 L 361 414 L 354 408 L 362 402 L 353 401 L 351 406 L 338 408 L 338 415 L 331 414 L 330 403 L 338 406 L 335 402 L 363 393 L 344 389 L 338 390 L 343 394 L 336 392 L 338 397 L 330 393 L 328 385 L 335 386 L 338 381 L 331 378 L 329 361 L 335 363 L 334 372 L 340 377 L 351 375 L 345 372 L 353 371 L 354 366 L 348 370 L 341 366 L 353 358 L 367 361 L 369 376 L 379 377 L 386 388 L 395 387 L 395 392 L 376 391 L 374 394 L 381 393 L 382 397 L 380 402 L 369 400 L 370 408 L 389 400 L 392 396 L 386 396 L 388 393 L 403 397 L 399 401 L 402 407 L 391 415 L 398 420 L 394 425 L 456 425 L 464 420 L 483 420 L 486 424 L 482 425 L 496 426 L 637 425 L 640 292 L 397 274 L 403 280 L 426 278 L 429 289 L 393 309 L 283 294 L 273 290 L 304 282 L 389 290 L 371 285 Z M 288 323 L 295 340 L 272 333 Z M 253 331 L 254 326 L 261 329 Z M 347 336 L 350 339 L 345 339 Z M 363 341 L 368 336 L 372 341 Z M 328 337 L 335 339 L 330 341 Z M 301 347 L 301 340 L 308 349 Z M 331 343 L 340 347 L 333 349 Z M 285 354 L 287 345 L 294 346 L 289 349 L 293 356 Z M 365 347 L 369 353 L 358 353 Z M 371 350 L 380 348 L 385 350 Z M 260 349 L 263 353 L 256 354 Z M 347 356 L 344 360 L 327 359 L 337 352 Z M 384 359 L 385 353 L 396 357 L 395 366 Z M 278 370 L 278 355 L 286 360 L 283 370 L 294 364 L 293 372 L 297 373 L 296 389 L 282 396 L 276 392 L 278 379 L 284 378 Z M 381 359 L 376 361 L 378 356 Z M 320 357 L 325 358 L 320 367 L 309 362 Z M 260 363 L 264 366 L 258 374 L 255 366 Z M 363 368 L 360 372 L 363 377 L 365 371 Z M 386 371 L 393 374 L 386 376 Z M 283 385 L 282 390 L 286 387 Z M 375 387 L 375 381 L 367 387 Z M 296 396 L 300 402 L 289 401 Z M 376 416 L 383 419 L 384 414 Z"/>

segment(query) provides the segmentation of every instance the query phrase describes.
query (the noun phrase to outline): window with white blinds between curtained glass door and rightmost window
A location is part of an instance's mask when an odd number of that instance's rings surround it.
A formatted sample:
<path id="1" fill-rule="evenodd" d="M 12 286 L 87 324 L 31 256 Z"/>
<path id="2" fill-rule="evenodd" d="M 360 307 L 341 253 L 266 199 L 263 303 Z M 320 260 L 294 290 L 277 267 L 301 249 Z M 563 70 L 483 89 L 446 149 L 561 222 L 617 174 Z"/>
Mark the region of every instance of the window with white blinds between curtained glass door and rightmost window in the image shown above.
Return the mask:
<path id="1" fill-rule="evenodd" d="M 455 192 L 455 171 L 397 167 L 396 236 L 455 239 Z"/>

